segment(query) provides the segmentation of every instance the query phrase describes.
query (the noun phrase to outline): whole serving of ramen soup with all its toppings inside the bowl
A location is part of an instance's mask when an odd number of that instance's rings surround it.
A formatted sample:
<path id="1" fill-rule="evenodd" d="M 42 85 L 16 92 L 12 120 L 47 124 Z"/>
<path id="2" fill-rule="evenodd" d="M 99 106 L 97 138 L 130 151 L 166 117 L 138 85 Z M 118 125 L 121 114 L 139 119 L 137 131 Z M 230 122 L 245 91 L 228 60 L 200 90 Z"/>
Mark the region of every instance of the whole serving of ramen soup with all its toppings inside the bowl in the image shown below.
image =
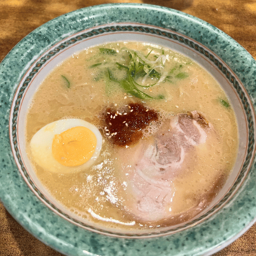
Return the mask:
<path id="1" fill-rule="evenodd" d="M 168 48 L 119 42 L 64 60 L 27 113 L 27 154 L 65 209 L 107 228 L 176 225 L 207 209 L 235 163 L 219 84 Z"/>

